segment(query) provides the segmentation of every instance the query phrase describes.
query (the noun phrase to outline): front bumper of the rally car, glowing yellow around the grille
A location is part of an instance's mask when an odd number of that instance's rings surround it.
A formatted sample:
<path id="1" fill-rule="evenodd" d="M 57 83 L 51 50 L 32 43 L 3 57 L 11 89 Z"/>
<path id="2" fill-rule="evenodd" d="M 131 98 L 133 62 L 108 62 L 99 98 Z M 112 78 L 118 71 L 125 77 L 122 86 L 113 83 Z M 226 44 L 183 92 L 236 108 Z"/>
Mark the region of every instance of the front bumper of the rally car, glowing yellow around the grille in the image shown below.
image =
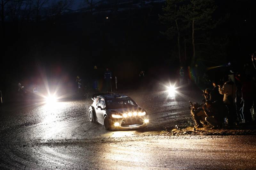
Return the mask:
<path id="1" fill-rule="evenodd" d="M 148 126 L 148 115 L 145 116 L 132 116 L 127 118 L 111 118 L 109 119 L 110 128 L 115 129 L 138 129 Z M 115 126 L 115 123 L 119 123 L 119 126 Z"/>

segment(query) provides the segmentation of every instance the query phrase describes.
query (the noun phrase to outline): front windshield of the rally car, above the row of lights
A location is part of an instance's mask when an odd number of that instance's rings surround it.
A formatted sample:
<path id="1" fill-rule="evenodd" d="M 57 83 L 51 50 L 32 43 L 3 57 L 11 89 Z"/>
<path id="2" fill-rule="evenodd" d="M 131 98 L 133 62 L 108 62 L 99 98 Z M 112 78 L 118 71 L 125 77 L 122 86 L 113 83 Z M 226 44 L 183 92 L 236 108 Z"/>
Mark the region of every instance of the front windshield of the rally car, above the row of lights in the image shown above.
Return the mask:
<path id="1" fill-rule="evenodd" d="M 119 108 L 128 108 L 136 107 L 137 104 L 131 99 L 114 99 L 107 100 L 108 109 L 119 109 Z"/>

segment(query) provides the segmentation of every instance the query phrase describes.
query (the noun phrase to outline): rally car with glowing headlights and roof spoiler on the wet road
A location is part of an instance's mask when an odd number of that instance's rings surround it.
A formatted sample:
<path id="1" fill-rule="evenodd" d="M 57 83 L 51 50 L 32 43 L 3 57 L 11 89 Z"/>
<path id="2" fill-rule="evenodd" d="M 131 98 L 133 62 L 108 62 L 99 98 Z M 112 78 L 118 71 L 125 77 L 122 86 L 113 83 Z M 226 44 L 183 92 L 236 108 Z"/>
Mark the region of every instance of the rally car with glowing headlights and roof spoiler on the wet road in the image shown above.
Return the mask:
<path id="1" fill-rule="evenodd" d="M 98 93 L 92 96 L 89 120 L 99 122 L 107 130 L 137 129 L 148 125 L 148 113 L 129 96 Z"/>

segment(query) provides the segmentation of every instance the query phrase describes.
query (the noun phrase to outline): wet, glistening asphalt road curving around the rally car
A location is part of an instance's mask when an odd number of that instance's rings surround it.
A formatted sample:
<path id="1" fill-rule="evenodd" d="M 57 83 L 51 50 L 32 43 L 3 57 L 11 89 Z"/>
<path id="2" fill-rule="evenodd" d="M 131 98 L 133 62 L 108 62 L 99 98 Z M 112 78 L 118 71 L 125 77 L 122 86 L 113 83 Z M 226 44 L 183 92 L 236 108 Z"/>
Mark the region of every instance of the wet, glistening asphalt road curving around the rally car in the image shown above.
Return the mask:
<path id="1" fill-rule="evenodd" d="M 256 169 L 255 136 L 161 135 L 190 120 L 199 91 L 122 93 L 148 110 L 146 131 L 89 122 L 91 99 L 2 109 L 0 169 Z"/>

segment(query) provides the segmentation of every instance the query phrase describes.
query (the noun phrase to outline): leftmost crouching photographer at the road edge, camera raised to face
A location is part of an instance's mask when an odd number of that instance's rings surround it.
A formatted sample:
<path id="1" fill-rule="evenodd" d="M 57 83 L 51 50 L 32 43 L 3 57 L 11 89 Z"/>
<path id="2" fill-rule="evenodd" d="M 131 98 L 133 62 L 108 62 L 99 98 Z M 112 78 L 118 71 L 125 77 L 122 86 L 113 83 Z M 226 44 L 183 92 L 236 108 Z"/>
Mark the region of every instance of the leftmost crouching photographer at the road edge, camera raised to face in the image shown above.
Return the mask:
<path id="1" fill-rule="evenodd" d="M 190 114 L 191 114 L 191 118 L 192 120 L 196 123 L 195 127 L 196 128 L 202 128 L 203 124 L 206 123 L 205 122 L 205 113 L 204 110 L 202 109 L 202 105 L 199 103 L 192 103 L 191 101 L 189 101 L 190 103 Z"/>

